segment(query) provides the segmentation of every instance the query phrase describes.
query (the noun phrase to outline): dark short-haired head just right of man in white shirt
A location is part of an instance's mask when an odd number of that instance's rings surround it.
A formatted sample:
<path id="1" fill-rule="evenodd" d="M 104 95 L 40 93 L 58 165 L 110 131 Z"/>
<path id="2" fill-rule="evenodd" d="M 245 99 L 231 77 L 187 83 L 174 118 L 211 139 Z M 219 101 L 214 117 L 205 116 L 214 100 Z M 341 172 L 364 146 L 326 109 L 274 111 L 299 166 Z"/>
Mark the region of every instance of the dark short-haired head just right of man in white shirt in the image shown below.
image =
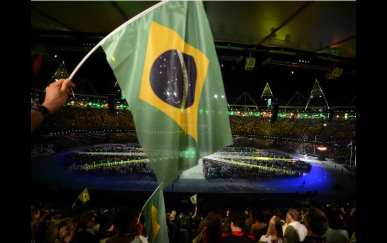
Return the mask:
<path id="1" fill-rule="evenodd" d="M 310 208 L 305 214 L 304 220 L 308 235 L 324 236 L 328 229 L 327 216 L 318 208 Z"/>

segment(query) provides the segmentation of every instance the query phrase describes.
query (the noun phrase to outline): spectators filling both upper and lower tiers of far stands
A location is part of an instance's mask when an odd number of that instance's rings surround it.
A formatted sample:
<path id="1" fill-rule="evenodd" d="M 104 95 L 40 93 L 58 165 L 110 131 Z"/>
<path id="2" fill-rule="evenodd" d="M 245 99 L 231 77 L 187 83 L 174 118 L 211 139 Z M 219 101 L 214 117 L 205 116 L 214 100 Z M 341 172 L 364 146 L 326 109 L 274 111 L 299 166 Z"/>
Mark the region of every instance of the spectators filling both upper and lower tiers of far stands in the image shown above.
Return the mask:
<path id="1" fill-rule="evenodd" d="M 356 141 L 354 119 L 278 117 L 274 124 L 264 116 L 230 116 L 235 145 L 258 148 L 277 147 L 284 152 L 315 154 L 316 146 L 327 147 L 326 157 L 349 160 L 350 141 Z M 64 106 L 36 130 L 34 144 L 55 144 L 69 147 L 98 143 L 138 143 L 129 109 L 109 113 L 109 109 L 91 106 Z M 316 143 L 315 143 L 316 140 Z M 59 148 L 59 149 L 60 149 Z"/>

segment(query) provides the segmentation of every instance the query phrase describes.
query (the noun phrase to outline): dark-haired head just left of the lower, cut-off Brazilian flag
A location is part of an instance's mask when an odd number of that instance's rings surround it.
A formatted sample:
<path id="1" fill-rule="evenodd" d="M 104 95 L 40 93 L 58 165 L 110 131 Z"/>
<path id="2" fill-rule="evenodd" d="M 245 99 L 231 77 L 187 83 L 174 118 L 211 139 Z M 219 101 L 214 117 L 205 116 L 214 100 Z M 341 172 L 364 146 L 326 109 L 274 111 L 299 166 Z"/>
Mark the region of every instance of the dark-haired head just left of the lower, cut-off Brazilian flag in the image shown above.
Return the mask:
<path id="1" fill-rule="evenodd" d="M 133 208 L 120 208 L 113 218 L 113 225 L 120 235 L 136 231 L 137 213 Z"/>

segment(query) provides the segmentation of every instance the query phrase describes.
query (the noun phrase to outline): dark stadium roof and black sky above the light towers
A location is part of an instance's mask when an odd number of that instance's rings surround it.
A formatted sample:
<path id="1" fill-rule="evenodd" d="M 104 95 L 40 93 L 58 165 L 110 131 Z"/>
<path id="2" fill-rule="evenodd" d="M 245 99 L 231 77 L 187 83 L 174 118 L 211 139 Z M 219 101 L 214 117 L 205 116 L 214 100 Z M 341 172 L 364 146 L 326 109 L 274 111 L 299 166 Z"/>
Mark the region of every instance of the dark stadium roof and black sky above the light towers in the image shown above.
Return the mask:
<path id="1" fill-rule="evenodd" d="M 71 73 L 93 45 L 156 3 L 158 1 L 31 2 L 32 59 L 42 55 L 44 60 L 40 74 L 33 77 L 32 86 L 44 87 L 61 61 L 65 61 Z M 203 3 L 218 58 L 224 65 L 222 74 L 230 103 L 232 97 L 245 91 L 253 99 L 259 99 L 266 82 L 276 97 L 286 103 L 297 91 L 309 96 L 316 78 L 328 101 L 337 99 L 329 103 L 348 105 L 353 100 L 355 1 Z M 246 71 L 245 57 L 250 55 L 256 58 L 255 67 L 253 71 Z M 341 77 L 325 79 L 333 67 L 343 69 Z M 295 74 L 291 74 L 292 71 Z M 102 50 L 92 55 L 73 81 L 83 79 L 99 93 L 106 93 L 114 86 L 115 78 Z"/>

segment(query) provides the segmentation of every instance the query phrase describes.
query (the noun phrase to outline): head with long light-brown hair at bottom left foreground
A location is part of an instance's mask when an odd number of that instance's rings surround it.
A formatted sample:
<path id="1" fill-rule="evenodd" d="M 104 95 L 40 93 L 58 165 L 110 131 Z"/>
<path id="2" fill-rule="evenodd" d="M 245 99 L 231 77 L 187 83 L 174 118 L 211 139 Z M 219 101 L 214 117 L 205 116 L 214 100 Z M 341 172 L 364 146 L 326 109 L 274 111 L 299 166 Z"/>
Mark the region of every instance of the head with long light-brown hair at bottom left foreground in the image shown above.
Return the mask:
<path id="1" fill-rule="evenodd" d="M 63 218 L 48 227 L 44 243 L 68 243 L 75 231 L 72 218 Z"/>

